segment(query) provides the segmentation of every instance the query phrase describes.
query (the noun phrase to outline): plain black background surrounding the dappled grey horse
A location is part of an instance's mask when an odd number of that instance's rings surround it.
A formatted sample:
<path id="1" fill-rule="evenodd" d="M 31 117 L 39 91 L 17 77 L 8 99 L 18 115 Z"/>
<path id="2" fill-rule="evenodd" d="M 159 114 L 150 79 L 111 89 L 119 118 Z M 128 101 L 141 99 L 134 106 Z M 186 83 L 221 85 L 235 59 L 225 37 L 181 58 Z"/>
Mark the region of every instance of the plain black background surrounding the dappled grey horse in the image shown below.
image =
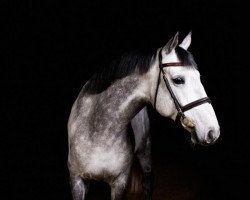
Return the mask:
<path id="1" fill-rule="evenodd" d="M 70 199 L 66 125 L 82 85 L 98 66 L 122 53 L 161 47 L 177 31 L 182 39 L 190 30 L 190 50 L 213 101 L 221 139 L 211 147 L 192 147 L 184 130 L 150 109 L 154 166 L 170 170 L 156 171 L 156 183 L 178 169 L 183 175 L 175 181 L 195 179 L 191 192 L 196 194 L 172 199 L 247 194 L 246 5 L 204 0 L 1 4 L 7 25 L 2 29 L 7 45 L 1 45 L 7 60 L 1 65 L 3 199 Z"/>

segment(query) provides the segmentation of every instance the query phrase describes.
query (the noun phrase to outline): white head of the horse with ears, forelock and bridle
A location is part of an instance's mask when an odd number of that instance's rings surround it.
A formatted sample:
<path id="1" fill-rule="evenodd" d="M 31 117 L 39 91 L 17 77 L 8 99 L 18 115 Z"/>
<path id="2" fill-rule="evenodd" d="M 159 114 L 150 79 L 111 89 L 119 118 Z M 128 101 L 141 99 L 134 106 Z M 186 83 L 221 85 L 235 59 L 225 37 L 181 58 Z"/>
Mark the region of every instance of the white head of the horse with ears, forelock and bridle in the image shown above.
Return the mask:
<path id="1" fill-rule="evenodd" d="M 213 144 L 220 128 L 210 99 L 201 83 L 200 73 L 188 51 L 191 32 L 179 44 L 178 33 L 158 49 L 150 71 L 151 103 L 163 116 L 179 118 L 191 133 L 193 143 Z"/>

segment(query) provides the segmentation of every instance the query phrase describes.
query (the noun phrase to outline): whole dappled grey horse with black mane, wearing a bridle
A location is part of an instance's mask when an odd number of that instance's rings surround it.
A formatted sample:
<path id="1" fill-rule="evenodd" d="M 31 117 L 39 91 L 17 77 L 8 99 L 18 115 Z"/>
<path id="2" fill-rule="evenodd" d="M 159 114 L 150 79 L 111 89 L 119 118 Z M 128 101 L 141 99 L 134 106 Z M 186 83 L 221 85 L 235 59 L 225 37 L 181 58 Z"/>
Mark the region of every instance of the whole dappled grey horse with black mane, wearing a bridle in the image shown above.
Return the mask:
<path id="1" fill-rule="evenodd" d="M 164 117 L 180 119 L 193 143 L 210 145 L 218 139 L 219 124 L 187 50 L 190 43 L 191 33 L 180 44 L 177 33 L 154 53 L 124 55 L 83 86 L 68 121 L 68 169 L 74 200 L 85 199 L 90 180 L 108 183 L 111 199 L 122 199 L 134 155 L 144 174 L 145 199 L 151 199 L 147 122 L 143 130 L 137 127 L 143 124 L 142 109 L 148 104 Z M 128 134 L 130 123 L 135 146 Z"/>

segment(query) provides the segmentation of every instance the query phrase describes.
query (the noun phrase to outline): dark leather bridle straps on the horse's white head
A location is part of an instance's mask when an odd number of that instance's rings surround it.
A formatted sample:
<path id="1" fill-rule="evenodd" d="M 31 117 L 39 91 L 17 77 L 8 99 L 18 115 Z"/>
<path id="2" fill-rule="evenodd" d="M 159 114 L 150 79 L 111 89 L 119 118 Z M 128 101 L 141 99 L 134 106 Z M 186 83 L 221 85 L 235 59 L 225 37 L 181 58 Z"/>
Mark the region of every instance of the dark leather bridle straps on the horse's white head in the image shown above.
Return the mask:
<path id="1" fill-rule="evenodd" d="M 162 63 L 162 55 L 161 55 L 161 52 L 162 52 L 162 49 L 159 51 L 159 76 L 158 76 L 158 81 L 157 81 L 157 88 L 156 88 L 156 92 L 155 92 L 155 100 L 154 100 L 154 107 L 156 109 L 156 100 L 157 100 L 157 93 L 158 93 L 158 89 L 159 89 L 159 84 L 160 84 L 160 81 L 161 81 L 161 73 L 163 75 L 163 80 L 166 84 L 166 87 L 174 101 L 174 104 L 175 104 L 175 107 L 177 109 L 177 112 L 178 112 L 178 117 L 180 117 L 181 120 L 185 119 L 186 116 L 184 114 L 184 112 L 196 107 L 196 106 L 199 106 L 201 104 L 204 104 L 204 103 L 211 103 L 211 100 L 209 97 L 203 97 L 201 99 L 198 99 L 196 101 L 193 101 L 191 103 L 188 103 L 186 104 L 185 106 L 182 106 L 179 101 L 177 100 L 170 84 L 169 84 L 169 81 L 166 77 L 166 74 L 163 70 L 164 67 L 180 67 L 180 66 L 184 66 L 183 63 L 178 63 L 178 62 L 172 62 L 172 63 Z"/>

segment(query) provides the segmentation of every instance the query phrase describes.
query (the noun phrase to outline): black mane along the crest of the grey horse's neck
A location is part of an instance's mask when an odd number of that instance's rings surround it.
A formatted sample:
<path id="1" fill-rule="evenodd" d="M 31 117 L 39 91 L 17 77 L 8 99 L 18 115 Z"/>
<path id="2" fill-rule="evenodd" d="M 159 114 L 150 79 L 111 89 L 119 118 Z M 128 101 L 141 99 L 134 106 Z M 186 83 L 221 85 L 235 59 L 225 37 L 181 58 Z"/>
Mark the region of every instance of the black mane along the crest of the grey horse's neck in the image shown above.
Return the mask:
<path id="1" fill-rule="evenodd" d="M 155 58 L 155 51 L 125 53 L 108 67 L 101 67 L 90 78 L 85 92 L 96 94 L 107 89 L 115 80 L 124 78 L 134 72 L 146 73 Z"/>

